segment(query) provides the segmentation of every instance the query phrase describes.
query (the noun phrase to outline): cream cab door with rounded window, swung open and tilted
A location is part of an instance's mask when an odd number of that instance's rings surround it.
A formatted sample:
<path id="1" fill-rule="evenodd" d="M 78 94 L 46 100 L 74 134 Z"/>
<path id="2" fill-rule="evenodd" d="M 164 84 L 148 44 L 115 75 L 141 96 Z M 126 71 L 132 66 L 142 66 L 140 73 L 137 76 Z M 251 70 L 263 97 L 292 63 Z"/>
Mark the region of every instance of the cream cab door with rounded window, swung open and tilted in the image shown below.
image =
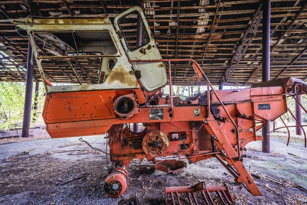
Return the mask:
<path id="1" fill-rule="evenodd" d="M 130 60 L 162 59 L 140 7 L 135 6 L 119 14 L 114 24 Z M 132 63 L 132 66 L 140 71 L 137 77 L 147 91 L 158 90 L 167 84 L 163 62 Z"/>

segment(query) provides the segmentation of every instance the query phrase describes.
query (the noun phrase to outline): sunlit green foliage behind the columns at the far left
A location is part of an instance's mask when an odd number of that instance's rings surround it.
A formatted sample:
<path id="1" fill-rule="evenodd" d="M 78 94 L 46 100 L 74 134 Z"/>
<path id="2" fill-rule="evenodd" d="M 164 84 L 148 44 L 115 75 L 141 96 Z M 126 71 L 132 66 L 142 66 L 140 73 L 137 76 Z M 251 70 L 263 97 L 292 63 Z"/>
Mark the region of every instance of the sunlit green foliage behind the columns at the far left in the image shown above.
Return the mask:
<path id="1" fill-rule="evenodd" d="M 35 103 L 35 84 L 32 95 L 31 119 L 41 113 L 45 92 L 43 86 L 40 86 L 37 98 L 37 111 L 33 110 Z M 25 106 L 26 83 L 24 82 L 0 82 L 0 130 L 9 130 L 22 127 L 24 106 Z"/>

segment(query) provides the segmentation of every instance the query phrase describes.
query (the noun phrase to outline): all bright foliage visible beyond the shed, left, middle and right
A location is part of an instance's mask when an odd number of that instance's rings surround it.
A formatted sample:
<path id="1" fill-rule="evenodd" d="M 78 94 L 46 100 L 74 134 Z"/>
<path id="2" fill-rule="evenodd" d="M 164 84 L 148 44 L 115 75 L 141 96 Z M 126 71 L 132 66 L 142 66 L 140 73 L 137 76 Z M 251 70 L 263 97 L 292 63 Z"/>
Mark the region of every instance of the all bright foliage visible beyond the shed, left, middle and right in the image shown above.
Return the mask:
<path id="1" fill-rule="evenodd" d="M 43 103 L 45 100 L 45 88 L 40 85 L 39 95 L 37 99 L 37 113 L 33 110 L 34 106 L 34 90 L 35 84 L 33 86 L 32 95 L 32 112 L 31 119 L 36 116 L 41 115 Z M 0 130 L 8 130 L 14 128 L 22 127 L 23 114 L 24 114 L 24 101 L 25 101 L 25 83 L 23 82 L 0 82 Z M 243 89 L 244 87 L 224 87 L 224 89 Z M 214 86 L 214 89 L 218 89 Z M 172 86 L 173 95 L 180 96 L 182 99 L 194 95 L 198 92 L 204 92 L 207 90 L 206 86 Z M 164 88 L 164 94 L 169 95 L 169 87 Z M 287 100 L 288 108 L 295 113 L 295 101 L 292 97 Z M 301 96 L 301 103 L 304 108 L 307 108 L 307 97 L 305 95 Z M 294 122 L 293 117 L 286 113 L 283 115 L 283 119 L 289 122 Z M 302 110 L 302 121 L 307 122 L 307 114 Z"/>

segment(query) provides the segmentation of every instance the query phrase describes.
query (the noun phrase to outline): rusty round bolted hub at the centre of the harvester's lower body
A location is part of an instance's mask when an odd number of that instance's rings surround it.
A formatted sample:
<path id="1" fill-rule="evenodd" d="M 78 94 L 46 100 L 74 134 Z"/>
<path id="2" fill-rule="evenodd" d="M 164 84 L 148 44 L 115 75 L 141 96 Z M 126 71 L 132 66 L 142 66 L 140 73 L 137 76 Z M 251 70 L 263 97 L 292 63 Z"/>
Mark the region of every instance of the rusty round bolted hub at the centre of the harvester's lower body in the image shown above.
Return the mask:
<path id="1" fill-rule="evenodd" d="M 150 131 L 143 138 L 142 146 L 144 152 L 151 157 L 162 156 L 169 145 L 167 136 L 159 131 Z"/>

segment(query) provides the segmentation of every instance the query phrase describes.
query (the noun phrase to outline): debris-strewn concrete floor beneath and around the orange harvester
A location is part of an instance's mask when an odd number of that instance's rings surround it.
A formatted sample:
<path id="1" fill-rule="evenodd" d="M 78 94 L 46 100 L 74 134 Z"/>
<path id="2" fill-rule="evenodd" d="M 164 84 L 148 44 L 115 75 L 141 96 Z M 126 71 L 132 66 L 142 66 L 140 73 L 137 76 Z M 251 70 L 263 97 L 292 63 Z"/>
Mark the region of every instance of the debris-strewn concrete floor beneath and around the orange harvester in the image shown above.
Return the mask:
<path id="1" fill-rule="evenodd" d="M 103 136 L 82 138 L 93 147 L 105 149 Z M 251 142 L 247 149 L 244 165 L 250 173 L 284 179 L 307 189 L 307 155 L 302 143 L 291 142 L 287 147 L 285 140 L 272 138 L 270 154 L 261 152 L 261 141 Z M 15 162 L 4 162 L 7 157 L 27 150 L 32 151 L 12 158 Z M 216 159 L 188 165 L 176 176 L 160 171 L 142 174 L 137 168 L 139 163 L 135 160 L 128 167 L 127 191 L 112 199 L 99 187 L 99 181 L 107 174 L 105 156 L 81 144 L 78 137 L 0 145 L 0 204 L 117 204 L 135 192 L 142 204 L 163 204 L 165 186 L 188 186 L 199 181 L 213 185 L 227 183 L 236 204 L 304 204 L 307 201 L 306 193 L 292 184 L 281 187 L 261 179 L 255 181 L 263 196 L 253 197 L 233 182 L 233 177 Z M 82 174 L 87 177 L 60 186 L 63 181 Z M 271 193 L 266 187 L 280 194 Z M 296 201 L 297 198 L 301 200 Z"/>

